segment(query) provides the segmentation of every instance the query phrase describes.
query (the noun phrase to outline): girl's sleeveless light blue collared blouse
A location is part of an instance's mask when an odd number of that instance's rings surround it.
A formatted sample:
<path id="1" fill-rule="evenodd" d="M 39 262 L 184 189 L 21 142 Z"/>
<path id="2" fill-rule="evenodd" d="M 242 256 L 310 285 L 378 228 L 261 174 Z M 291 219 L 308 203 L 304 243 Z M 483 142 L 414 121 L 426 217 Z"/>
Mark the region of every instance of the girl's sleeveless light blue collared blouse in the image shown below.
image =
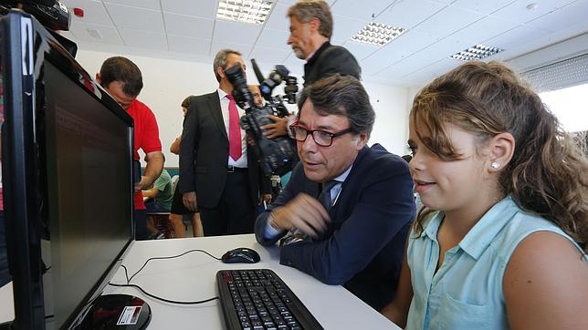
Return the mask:
<path id="1" fill-rule="evenodd" d="M 423 225 L 423 234 L 417 238 L 411 232 L 409 237 L 407 257 L 414 296 L 406 329 L 509 328 L 502 278 L 519 242 L 538 231 L 557 232 L 572 241 L 555 224 L 521 211 L 507 197 L 446 252 L 435 273 L 439 260 L 436 237 L 443 216 L 441 211 L 433 213 Z M 588 263 L 588 256 L 583 257 Z"/>

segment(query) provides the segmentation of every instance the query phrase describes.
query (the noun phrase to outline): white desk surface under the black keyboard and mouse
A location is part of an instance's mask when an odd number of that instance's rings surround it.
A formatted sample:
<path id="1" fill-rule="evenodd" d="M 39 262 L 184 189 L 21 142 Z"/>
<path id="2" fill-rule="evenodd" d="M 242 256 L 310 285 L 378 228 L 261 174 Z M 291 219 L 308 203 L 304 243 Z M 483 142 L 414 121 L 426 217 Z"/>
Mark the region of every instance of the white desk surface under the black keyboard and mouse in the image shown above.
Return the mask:
<path id="1" fill-rule="evenodd" d="M 279 264 L 277 246 L 259 245 L 253 234 L 134 242 L 123 260 L 129 275 L 150 257 L 171 256 L 202 249 L 219 257 L 227 250 L 249 247 L 261 256 L 259 263 L 221 263 L 205 253 L 188 253 L 168 260 L 153 260 L 132 279 L 150 294 L 179 301 L 205 300 L 217 294 L 215 275 L 220 269 L 269 268 L 289 285 L 325 329 L 399 329 L 342 286 L 322 284 L 298 270 Z M 124 271 L 112 283 L 124 284 Z M 152 307 L 151 329 L 223 329 L 218 300 L 205 304 L 166 304 L 144 296 L 134 288 L 107 286 L 105 293 L 134 294 Z"/>

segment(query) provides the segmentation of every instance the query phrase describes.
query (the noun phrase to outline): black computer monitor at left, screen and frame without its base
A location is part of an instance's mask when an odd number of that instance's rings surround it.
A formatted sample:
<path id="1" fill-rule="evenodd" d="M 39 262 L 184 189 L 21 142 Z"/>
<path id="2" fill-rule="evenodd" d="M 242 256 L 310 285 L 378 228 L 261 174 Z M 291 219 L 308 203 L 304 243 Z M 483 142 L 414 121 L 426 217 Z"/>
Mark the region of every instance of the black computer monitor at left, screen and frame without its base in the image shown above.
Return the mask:
<path id="1" fill-rule="evenodd" d="M 3 16 L 0 49 L 13 327 L 68 328 L 132 243 L 133 121 L 34 17 Z"/>

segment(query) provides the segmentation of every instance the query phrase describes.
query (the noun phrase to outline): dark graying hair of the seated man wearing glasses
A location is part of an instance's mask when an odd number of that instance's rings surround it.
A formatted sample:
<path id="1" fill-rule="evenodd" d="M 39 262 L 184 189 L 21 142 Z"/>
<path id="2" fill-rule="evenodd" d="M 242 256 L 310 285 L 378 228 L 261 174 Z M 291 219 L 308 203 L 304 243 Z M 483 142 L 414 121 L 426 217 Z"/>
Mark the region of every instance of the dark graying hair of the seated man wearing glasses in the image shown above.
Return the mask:
<path id="1" fill-rule="evenodd" d="M 307 99 L 320 115 L 347 117 L 353 133 L 367 133 L 368 136 L 372 133 L 375 112 L 370 97 L 357 78 L 336 74 L 310 84 L 300 95 L 299 116 Z"/>

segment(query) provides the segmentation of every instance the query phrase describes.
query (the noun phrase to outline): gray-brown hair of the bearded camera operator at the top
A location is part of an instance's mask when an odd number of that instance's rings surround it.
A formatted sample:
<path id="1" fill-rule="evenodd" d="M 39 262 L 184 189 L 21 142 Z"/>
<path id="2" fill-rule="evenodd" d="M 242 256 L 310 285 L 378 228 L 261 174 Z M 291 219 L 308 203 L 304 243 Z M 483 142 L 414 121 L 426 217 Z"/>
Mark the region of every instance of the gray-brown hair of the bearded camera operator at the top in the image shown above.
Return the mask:
<path id="1" fill-rule="evenodd" d="M 329 4 L 322 0 L 301 0 L 288 9 L 288 17 L 296 17 L 301 23 L 309 23 L 313 18 L 320 22 L 320 36 L 331 40 L 332 15 Z"/>

